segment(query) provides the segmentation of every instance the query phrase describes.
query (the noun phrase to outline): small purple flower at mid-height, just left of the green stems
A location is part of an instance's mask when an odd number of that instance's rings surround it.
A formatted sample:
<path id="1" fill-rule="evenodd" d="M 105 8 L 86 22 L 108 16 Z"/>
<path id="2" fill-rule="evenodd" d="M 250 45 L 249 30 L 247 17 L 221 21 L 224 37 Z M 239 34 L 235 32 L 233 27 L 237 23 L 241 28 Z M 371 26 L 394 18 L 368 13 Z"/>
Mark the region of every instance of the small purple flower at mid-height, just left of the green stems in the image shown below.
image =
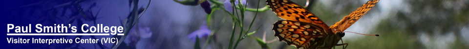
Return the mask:
<path id="1" fill-rule="evenodd" d="M 200 26 L 199 30 L 196 30 L 194 32 L 192 32 L 191 34 L 189 34 L 187 37 L 188 38 L 191 38 L 192 41 L 195 42 L 195 37 L 199 37 L 199 38 L 202 38 L 204 36 L 209 36 L 210 35 L 210 29 L 207 28 L 207 25 L 202 25 Z"/>

